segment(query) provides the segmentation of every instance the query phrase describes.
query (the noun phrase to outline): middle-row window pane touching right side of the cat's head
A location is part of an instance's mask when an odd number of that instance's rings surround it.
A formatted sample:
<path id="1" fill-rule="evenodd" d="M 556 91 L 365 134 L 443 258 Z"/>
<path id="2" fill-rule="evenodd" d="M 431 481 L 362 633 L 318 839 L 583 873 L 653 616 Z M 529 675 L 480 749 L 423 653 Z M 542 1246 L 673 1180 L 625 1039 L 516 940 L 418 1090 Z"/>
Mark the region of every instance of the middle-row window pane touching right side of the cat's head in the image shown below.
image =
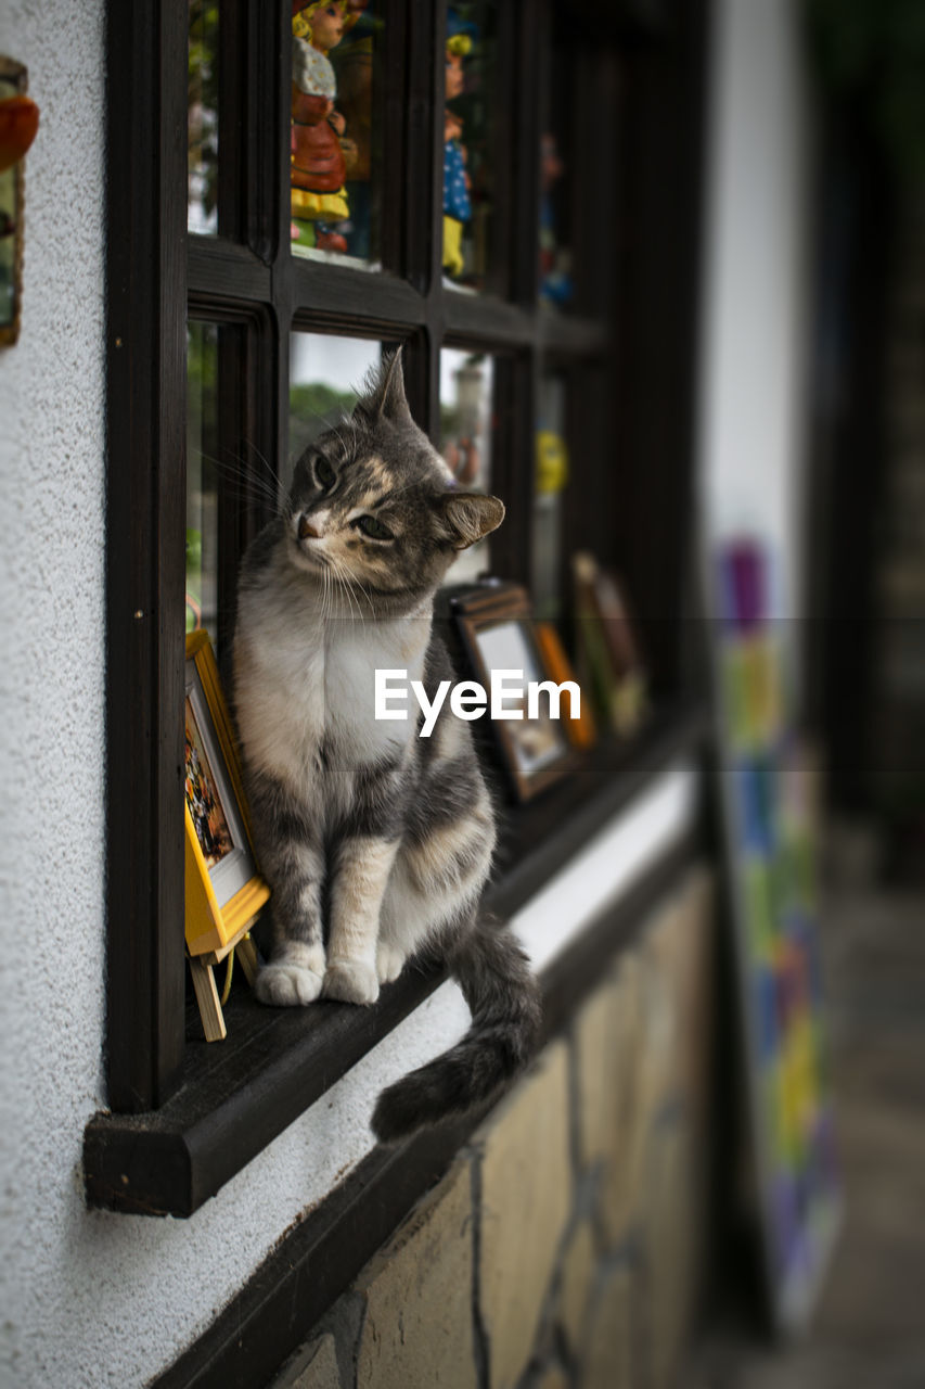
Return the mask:
<path id="1" fill-rule="evenodd" d="M 494 361 L 485 353 L 440 353 L 440 453 L 460 488 L 492 490 Z M 468 582 L 490 567 L 489 540 L 462 550 L 447 583 Z"/>

